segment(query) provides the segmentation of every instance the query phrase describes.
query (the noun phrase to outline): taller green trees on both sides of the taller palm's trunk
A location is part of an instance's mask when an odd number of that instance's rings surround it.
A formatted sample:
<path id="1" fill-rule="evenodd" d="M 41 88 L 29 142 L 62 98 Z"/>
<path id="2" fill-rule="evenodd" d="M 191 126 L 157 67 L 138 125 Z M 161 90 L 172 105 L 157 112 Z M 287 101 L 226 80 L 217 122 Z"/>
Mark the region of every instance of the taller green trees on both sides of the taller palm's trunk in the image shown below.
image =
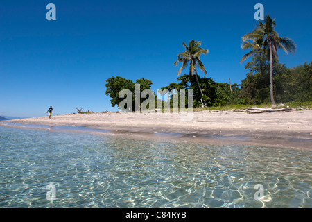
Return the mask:
<path id="1" fill-rule="evenodd" d="M 270 102 L 270 62 L 261 53 L 254 55 L 245 69 L 248 74 L 241 83 L 240 104 L 261 104 Z M 312 101 L 312 62 L 287 68 L 273 62 L 274 94 L 277 103 L 291 101 Z"/>

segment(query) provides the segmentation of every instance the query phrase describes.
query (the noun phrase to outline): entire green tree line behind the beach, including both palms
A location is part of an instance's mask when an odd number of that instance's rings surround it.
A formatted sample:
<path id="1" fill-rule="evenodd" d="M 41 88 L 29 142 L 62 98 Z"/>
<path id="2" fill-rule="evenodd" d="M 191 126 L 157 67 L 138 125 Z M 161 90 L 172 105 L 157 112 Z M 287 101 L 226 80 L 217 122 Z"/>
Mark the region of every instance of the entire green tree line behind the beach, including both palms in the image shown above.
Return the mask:
<path id="1" fill-rule="evenodd" d="M 310 102 L 312 101 L 312 62 L 288 68 L 281 64 L 278 59 L 277 50 L 283 49 L 286 53 L 294 53 L 296 50 L 295 42 L 286 37 L 279 37 L 275 31 L 275 19 L 266 16 L 264 23 L 254 28 L 252 33 L 242 37 L 242 49 L 250 49 L 241 59 L 241 63 L 247 58 L 252 60 L 246 63 L 245 70 L 248 71 L 246 78 L 241 84 L 216 83 L 212 78 L 206 78 L 207 71 L 200 60 L 201 55 L 208 53 L 207 49 L 200 47 L 200 41 L 191 40 L 189 45 L 183 42 L 184 51 L 177 55 L 177 61 L 182 63 L 177 75 L 182 70 L 189 67 L 189 74 L 184 74 L 177 78 L 177 83 L 170 83 L 162 87 L 162 90 L 176 93 L 181 89 L 193 90 L 194 107 L 220 107 L 231 105 L 259 105 L 272 103 L 291 103 L 291 102 Z M 199 68 L 206 76 L 200 78 L 196 68 Z M 230 74 L 229 74 L 229 77 Z M 145 78 L 137 79 L 136 82 L 112 76 L 106 80 L 106 95 L 110 96 L 112 106 L 119 105 L 123 98 L 119 98 L 122 89 L 129 89 L 132 93 L 132 105 L 135 101 L 140 104 L 145 99 L 135 98 L 135 83 L 141 85 L 140 92 L 150 89 L 152 82 Z M 274 96 L 273 96 L 274 94 Z M 153 96 L 157 95 L 155 92 Z M 149 97 L 148 97 L 149 98 Z M 187 99 L 186 99 L 187 100 Z M 180 102 L 180 101 L 179 101 Z M 173 96 L 165 104 L 172 108 Z M 187 101 L 186 101 L 187 103 Z M 155 108 L 157 98 L 155 97 Z M 132 110 L 125 108 L 125 110 Z"/>

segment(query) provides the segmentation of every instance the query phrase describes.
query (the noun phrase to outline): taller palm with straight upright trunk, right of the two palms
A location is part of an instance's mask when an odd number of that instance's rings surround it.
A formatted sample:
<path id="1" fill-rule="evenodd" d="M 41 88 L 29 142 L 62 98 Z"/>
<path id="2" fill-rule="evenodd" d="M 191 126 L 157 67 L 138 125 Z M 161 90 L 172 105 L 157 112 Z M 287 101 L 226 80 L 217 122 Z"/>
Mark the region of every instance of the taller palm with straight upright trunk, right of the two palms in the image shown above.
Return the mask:
<path id="1" fill-rule="evenodd" d="M 273 57 L 278 58 L 277 49 L 284 49 L 287 54 L 288 52 L 295 53 L 296 50 L 295 42 L 288 37 L 279 37 L 279 34 L 275 31 L 275 26 L 275 19 L 271 19 L 270 15 L 266 15 L 264 23 L 259 21 L 254 31 L 242 38 L 244 42 L 252 40 L 253 42 L 261 43 L 264 50 L 270 50 L 270 96 L 272 104 L 275 104 L 273 94 Z M 250 52 L 249 56 L 252 56 L 252 52 Z"/>

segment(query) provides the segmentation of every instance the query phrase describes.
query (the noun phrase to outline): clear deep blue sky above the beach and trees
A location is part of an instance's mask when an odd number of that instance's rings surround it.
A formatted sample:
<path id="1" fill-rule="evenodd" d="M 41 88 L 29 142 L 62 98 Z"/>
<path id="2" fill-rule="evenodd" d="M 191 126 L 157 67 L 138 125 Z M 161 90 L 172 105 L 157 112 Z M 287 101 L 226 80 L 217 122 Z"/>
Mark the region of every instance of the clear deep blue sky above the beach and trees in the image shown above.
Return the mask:
<path id="1" fill-rule="evenodd" d="M 56 21 L 46 5 L 56 6 Z M 297 44 L 295 55 L 279 51 L 294 67 L 312 60 L 312 3 L 297 1 L 1 1 L 0 115 L 44 116 L 113 110 L 105 80 L 148 78 L 156 91 L 177 82 L 173 62 L 182 42 L 202 41 L 208 77 L 241 83 L 245 63 L 241 37 L 251 32 L 254 5 L 277 19 L 277 32 Z M 204 76 L 201 72 L 200 76 Z"/>

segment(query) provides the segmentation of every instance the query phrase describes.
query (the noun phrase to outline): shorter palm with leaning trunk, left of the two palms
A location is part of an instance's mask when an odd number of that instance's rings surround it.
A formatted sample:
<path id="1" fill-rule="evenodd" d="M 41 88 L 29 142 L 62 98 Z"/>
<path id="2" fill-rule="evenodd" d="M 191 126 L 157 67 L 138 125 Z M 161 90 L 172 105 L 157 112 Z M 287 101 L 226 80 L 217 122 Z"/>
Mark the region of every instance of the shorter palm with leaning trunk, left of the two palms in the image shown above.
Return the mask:
<path id="1" fill-rule="evenodd" d="M 196 71 L 196 67 L 199 67 L 200 70 L 202 70 L 205 75 L 207 75 L 207 71 L 205 69 L 205 66 L 202 64 L 202 61 L 200 60 L 200 56 L 202 54 L 207 55 L 207 53 L 209 52 L 209 50 L 207 49 L 202 49 L 200 47 L 200 45 L 202 44 L 202 42 L 200 41 L 195 41 L 195 40 L 191 40 L 189 42 L 189 46 L 187 46 L 187 44 L 185 44 L 183 42 L 183 46 L 185 51 L 182 53 L 179 53 L 177 55 L 177 61 L 175 61 L 175 66 L 177 66 L 177 62 L 182 62 L 182 67 L 179 69 L 179 71 L 177 72 L 177 76 L 179 76 L 182 72 L 183 69 L 185 69 L 188 65 L 189 65 L 189 74 L 196 77 L 196 82 L 198 84 L 198 88 L 200 89 L 200 94 L 202 96 L 204 96 L 204 94 L 202 93 L 202 88 L 200 87 L 200 83 L 198 81 L 198 74 Z M 204 106 L 204 103 L 202 101 L 202 99 L 200 99 L 202 106 Z"/>

